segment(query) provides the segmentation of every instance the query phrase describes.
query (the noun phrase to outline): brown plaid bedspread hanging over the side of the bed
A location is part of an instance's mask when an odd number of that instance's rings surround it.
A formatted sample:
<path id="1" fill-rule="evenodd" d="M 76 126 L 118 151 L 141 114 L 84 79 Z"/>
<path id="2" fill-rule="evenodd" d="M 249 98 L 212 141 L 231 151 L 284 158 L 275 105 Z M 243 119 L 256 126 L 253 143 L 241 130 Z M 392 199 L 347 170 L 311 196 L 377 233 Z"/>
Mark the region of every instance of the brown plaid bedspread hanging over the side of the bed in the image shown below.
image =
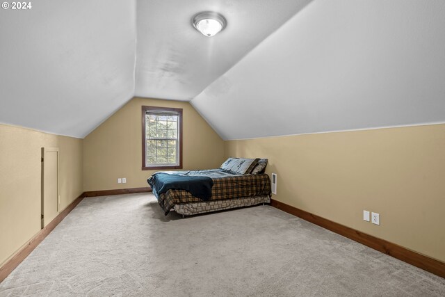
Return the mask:
<path id="1" fill-rule="evenodd" d="M 270 179 L 266 174 L 209 177 L 213 179 L 210 200 L 270 195 Z M 168 190 L 167 193 L 157 195 L 156 198 L 158 198 L 159 205 L 161 205 L 165 216 L 175 204 L 202 202 L 200 198 L 196 198 L 184 190 Z"/>

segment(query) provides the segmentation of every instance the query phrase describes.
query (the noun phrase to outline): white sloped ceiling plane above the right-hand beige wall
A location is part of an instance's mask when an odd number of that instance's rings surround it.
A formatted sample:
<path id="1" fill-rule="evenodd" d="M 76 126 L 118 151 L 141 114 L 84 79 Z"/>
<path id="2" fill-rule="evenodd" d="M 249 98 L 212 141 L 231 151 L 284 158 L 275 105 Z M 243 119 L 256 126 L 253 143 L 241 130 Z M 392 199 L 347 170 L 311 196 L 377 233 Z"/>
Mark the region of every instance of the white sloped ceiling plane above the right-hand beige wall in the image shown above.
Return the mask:
<path id="1" fill-rule="evenodd" d="M 313 1 L 191 103 L 226 140 L 445 122 L 445 1 Z"/>

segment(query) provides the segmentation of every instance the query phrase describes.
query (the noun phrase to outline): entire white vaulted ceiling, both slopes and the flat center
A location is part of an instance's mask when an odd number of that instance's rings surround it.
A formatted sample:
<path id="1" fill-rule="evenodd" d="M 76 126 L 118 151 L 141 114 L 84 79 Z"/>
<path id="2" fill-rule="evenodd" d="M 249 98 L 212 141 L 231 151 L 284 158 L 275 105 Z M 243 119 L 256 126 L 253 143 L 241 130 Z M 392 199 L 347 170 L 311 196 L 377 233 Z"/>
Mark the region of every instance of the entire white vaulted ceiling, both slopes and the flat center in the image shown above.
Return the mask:
<path id="1" fill-rule="evenodd" d="M 32 5 L 0 10 L 6 124 L 83 138 L 135 95 L 191 101 L 224 139 L 445 122 L 442 0 Z"/>

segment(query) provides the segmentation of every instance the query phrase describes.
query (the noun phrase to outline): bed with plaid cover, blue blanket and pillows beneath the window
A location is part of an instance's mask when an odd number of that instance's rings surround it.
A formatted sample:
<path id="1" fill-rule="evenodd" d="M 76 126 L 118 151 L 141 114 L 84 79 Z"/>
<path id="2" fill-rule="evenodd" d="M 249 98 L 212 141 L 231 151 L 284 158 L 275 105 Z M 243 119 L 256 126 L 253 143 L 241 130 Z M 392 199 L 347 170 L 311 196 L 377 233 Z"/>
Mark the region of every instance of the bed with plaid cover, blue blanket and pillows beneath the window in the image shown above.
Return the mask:
<path id="1" fill-rule="evenodd" d="M 267 159 L 229 158 L 218 169 L 155 172 L 148 184 L 165 216 L 270 203 Z"/>

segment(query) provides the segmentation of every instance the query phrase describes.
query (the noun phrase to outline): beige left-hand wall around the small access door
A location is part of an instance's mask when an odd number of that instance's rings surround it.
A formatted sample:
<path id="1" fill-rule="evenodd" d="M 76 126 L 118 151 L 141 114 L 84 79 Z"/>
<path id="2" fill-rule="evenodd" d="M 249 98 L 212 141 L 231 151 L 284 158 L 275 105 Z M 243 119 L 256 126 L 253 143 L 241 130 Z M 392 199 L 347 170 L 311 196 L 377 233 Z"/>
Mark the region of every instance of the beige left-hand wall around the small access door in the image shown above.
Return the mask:
<path id="1" fill-rule="evenodd" d="M 41 147 L 59 148 L 65 209 L 83 192 L 83 141 L 0 124 L 0 266 L 40 230 Z"/>

